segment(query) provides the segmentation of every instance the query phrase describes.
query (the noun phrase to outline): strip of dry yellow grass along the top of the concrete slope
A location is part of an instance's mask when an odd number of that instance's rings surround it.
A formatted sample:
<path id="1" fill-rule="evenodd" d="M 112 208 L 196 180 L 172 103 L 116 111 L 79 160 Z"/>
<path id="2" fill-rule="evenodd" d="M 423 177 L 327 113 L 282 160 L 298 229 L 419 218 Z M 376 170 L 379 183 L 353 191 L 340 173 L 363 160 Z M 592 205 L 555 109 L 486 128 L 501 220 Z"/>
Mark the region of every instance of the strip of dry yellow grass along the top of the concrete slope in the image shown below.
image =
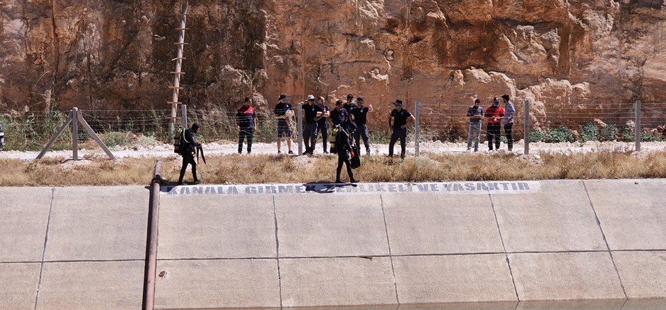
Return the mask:
<path id="1" fill-rule="evenodd" d="M 335 156 L 210 156 L 199 165 L 205 183 L 307 183 L 335 179 Z M 178 181 L 180 157 L 162 158 L 162 176 Z M 355 176 L 364 182 L 511 181 L 545 179 L 666 178 L 666 152 L 597 152 L 515 156 L 512 154 L 429 154 L 403 163 L 383 156 L 362 158 Z M 87 158 L 65 161 L 0 159 L 0 186 L 148 185 L 155 158 Z M 343 179 L 346 179 L 343 170 Z M 185 181 L 191 180 L 187 170 Z"/>

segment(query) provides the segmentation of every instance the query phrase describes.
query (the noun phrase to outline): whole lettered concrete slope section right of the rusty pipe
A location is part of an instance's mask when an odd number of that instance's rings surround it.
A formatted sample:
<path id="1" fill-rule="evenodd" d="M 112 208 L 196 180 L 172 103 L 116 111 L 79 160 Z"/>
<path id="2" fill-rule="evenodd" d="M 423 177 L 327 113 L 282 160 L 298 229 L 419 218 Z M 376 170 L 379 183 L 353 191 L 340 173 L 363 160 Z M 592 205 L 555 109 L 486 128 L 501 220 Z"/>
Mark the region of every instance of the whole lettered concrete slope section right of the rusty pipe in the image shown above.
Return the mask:
<path id="1" fill-rule="evenodd" d="M 666 298 L 665 180 L 163 188 L 156 308 Z"/>

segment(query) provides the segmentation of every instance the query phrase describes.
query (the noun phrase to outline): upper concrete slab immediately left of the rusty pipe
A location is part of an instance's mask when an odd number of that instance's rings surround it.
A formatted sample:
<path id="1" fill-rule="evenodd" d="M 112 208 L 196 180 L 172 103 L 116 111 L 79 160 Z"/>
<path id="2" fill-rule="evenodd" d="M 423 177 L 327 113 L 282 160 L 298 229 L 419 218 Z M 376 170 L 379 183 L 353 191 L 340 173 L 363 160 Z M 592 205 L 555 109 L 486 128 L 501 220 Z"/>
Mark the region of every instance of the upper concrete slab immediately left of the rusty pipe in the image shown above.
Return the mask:
<path id="1" fill-rule="evenodd" d="M 145 188 L 58 188 L 44 260 L 144 259 L 147 226 Z"/>

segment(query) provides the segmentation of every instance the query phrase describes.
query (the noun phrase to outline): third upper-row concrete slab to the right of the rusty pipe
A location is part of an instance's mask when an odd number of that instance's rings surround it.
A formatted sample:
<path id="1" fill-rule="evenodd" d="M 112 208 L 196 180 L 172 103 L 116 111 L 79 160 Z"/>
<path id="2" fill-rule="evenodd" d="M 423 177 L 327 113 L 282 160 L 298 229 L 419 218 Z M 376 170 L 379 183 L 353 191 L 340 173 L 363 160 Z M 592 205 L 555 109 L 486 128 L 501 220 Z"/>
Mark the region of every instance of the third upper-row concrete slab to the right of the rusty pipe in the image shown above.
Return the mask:
<path id="1" fill-rule="evenodd" d="M 393 255 L 503 251 L 488 195 L 382 198 Z"/>

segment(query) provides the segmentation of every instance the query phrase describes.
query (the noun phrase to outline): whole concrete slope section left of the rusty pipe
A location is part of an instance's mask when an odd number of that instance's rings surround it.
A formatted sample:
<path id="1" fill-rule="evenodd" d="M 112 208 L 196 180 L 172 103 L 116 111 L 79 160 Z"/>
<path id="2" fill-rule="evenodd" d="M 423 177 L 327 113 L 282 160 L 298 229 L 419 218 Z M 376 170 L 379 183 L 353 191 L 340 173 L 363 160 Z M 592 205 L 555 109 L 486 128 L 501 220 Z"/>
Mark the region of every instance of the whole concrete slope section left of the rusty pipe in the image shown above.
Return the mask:
<path id="1" fill-rule="evenodd" d="M 148 190 L 0 188 L 0 197 L 0 309 L 141 307 Z"/>

